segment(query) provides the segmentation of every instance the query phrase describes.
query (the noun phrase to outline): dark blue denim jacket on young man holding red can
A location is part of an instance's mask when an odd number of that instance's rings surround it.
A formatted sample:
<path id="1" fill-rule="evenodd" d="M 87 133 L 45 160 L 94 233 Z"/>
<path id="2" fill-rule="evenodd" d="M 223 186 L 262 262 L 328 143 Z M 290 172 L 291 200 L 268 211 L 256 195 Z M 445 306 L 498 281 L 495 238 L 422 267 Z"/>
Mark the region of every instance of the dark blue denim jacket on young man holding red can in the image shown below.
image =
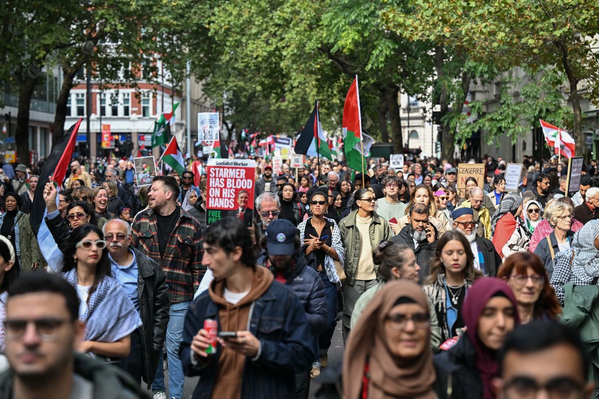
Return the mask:
<path id="1" fill-rule="evenodd" d="M 193 300 L 187 310 L 179 348 L 185 375 L 200 376 L 193 399 L 210 398 L 222 349 L 219 347 L 207 363 L 192 364 L 193 336 L 204 328 L 205 319 L 219 320 L 218 306 L 208 291 Z M 295 373 L 310 370 L 314 360 L 310 328 L 297 296 L 274 281 L 252 304 L 248 330 L 260 340 L 261 352 L 257 360 L 246 358 L 241 398 L 295 397 Z"/>

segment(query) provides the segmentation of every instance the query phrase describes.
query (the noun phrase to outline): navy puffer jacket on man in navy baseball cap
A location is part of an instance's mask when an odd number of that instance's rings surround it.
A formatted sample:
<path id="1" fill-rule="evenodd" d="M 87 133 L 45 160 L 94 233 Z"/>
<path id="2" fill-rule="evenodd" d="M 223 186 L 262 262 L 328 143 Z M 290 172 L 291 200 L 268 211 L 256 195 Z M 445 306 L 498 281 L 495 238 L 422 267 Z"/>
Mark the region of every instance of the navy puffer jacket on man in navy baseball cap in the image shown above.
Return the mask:
<path id="1" fill-rule="evenodd" d="M 285 285 L 291 287 L 299 298 L 308 319 L 308 325 L 312 335 L 317 336 L 326 330 L 326 295 L 325 285 L 316 270 L 308 266 L 301 250 L 294 252 L 295 266 L 285 273 L 287 281 Z M 268 267 L 276 275 L 277 269 L 268 261 L 268 255 L 264 252 L 258 264 Z"/>

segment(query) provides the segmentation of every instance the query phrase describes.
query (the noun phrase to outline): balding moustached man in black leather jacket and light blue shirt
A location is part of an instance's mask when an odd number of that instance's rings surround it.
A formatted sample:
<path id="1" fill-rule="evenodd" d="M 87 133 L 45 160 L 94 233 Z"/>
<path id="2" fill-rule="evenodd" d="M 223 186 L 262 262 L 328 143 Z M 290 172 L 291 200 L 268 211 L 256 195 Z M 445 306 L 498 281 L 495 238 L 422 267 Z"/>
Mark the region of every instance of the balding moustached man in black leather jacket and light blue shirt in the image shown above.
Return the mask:
<path id="1" fill-rule="evenodd" d="M 160 265 L 131 246 L 131 226 L 113 219 L 102 227 L 110 252 L 110 266 L 138 312 L 142 325 L 131 333 L 131 352 L 121 361 L 135 378 L 148 386 L 156 374 L 158 358 L 167 333 L 168 287 Z"/>

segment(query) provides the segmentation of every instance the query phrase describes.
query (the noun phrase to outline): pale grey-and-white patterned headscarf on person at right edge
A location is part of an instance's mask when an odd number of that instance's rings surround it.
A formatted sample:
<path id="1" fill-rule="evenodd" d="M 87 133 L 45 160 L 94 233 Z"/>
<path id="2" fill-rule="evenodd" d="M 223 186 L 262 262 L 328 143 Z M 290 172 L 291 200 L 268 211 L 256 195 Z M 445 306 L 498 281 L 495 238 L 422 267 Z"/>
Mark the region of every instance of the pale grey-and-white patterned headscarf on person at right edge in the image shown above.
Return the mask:
<path id="1" fill-rule="evenodd" d="M 599 220 L 591 220 L 574 233 L 571 247 L 574 250 L 572 273 L 583 281 L 599 276 L 599 251 L 595 238 L 599 236 Z"/>

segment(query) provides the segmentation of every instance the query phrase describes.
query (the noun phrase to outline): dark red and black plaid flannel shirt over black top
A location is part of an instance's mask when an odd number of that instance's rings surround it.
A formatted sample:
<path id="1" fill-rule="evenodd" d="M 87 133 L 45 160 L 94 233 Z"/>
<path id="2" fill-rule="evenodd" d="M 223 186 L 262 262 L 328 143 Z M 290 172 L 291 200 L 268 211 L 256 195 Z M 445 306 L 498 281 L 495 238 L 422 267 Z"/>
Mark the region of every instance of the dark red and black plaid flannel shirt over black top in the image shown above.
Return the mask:
<path id="1" fill-rule="evenodd" d="M 192 300 L 206 271 L 202 266 L 204 250 L 199 222 L 183 209 L 180 209 L 180 212 L 181 216 L 168 240 L 162 258 L 158 246 L 155 211 L 153 209 L 141 211 L 131 226 L 135 248 L 160 264 L 166 273 L 168 299 L 171 303 Z"/>

